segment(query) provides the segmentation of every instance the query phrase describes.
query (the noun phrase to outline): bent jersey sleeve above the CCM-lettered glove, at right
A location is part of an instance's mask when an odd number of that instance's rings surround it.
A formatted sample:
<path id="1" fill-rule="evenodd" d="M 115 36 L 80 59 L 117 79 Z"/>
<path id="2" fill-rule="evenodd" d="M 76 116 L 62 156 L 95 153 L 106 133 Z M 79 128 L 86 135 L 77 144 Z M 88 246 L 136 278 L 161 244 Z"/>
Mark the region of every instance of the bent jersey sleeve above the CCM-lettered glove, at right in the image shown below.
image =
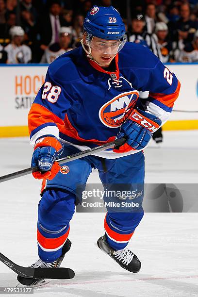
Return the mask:
<path id="1" fill-rule="evenodd" d="M 162 125 L 168 120 L 175 100 L 179 96 L 180 82 L 160 60 L 147 70 L 147 79 L 141 91 L 149 91 L 148 99 L 142 100 L 146 111 L 159 117 Z"/>

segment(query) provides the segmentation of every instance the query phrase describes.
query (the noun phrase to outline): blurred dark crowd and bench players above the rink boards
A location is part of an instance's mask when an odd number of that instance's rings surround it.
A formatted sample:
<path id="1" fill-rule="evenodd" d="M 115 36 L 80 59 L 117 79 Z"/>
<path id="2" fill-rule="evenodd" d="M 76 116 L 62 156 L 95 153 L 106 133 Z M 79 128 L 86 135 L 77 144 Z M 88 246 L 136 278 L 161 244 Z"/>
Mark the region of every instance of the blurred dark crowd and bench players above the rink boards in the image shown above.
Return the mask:
<path id="1" fill-rule="evenodd" d="M 0 63 L 51 63 L 78 47 L 93 5 L 113 5 L 128 41 L 163 63 L 198 62 L 198 0 L 0 0 Z"/>

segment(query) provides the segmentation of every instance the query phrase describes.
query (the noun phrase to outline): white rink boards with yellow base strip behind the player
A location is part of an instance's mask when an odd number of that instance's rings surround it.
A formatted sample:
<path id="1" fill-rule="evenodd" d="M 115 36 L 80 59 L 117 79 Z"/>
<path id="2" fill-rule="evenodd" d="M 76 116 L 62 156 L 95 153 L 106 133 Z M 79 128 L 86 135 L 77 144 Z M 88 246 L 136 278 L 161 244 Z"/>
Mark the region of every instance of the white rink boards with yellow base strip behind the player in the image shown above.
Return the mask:
<path id="1" fill-rule="evenodd" d="M 181 82 L 175 110 L 164 130 L 198 129 L 198 63 L 169 64 Z M 0 137 L 28 135 L 27 115 L 48 65 L 0 65 Z M 194 111 L 194 112 L 185 112 Z"/>

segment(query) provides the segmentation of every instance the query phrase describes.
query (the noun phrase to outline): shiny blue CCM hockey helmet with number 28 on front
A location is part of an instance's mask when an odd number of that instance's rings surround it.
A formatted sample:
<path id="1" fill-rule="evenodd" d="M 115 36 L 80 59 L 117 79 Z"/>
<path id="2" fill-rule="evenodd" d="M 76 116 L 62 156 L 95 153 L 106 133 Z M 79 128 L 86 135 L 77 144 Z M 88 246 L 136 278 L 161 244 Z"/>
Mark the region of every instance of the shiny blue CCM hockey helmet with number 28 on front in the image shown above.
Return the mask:
<path id="1" fill-rule="evenodd" d="M 118 40 L 125 34 L 125 25 L 113 7 L 94 6 L 84 19 L 84 31 L 101 39 Z"/>

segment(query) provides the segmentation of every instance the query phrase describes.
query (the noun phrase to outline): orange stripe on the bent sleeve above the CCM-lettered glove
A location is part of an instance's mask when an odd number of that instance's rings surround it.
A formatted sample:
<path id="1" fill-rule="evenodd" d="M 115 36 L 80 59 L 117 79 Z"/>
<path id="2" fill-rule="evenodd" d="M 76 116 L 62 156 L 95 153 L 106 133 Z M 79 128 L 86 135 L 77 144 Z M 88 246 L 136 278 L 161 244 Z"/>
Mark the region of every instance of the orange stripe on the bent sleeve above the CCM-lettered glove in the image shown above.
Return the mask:
<path id="1" fill-rule="evenodd" d="M 174 104 L 175 100 L 179 96 L 180 87 L 181 87 L 181 83 L 178 81 L 177 88 L 176 88 L 175 92 L 172 93 L 172 94 L 165 95 L 165 94 L 159 94 L 159 93 L 149 92 L 149 95 L 152 98 L 154 98 L 154 99 L 160 101 L 161 103 L 165 104 L 166 106 L 173 107 L 173 104 Z"/>

